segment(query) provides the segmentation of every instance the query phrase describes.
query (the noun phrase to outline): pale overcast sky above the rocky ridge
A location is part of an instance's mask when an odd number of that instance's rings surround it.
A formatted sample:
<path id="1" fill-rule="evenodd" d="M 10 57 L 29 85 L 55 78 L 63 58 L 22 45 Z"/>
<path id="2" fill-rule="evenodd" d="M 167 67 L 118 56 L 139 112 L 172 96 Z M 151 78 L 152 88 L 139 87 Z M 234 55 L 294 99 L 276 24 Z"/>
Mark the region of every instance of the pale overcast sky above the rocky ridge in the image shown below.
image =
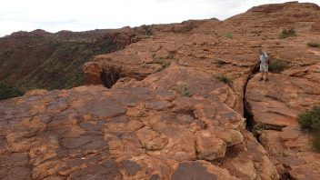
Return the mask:
<path id="1" fill-rule="evenodd" d="M 0 36 L 24 30 L 85 31 L 227 17 L 285 0 L 1 0 Z M 307 0 L 320 5 L 320 0 Z"/>

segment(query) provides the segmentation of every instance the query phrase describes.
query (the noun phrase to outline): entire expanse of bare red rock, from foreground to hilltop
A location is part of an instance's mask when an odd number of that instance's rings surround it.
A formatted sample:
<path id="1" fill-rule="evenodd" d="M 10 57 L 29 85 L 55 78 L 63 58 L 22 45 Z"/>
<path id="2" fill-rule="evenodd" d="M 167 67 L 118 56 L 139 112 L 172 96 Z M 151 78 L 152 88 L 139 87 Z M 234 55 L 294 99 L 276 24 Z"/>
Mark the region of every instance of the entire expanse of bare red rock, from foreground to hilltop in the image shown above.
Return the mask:
<path id="1" fill-rule="evenodd" d="M 93 46 L 124 49 L 85 63 L 87 85 L 0 102 L 0 177 L 320 179 L 297 122 L 320 104 L 319 16 L 294 2 L 110 31 Z"/>

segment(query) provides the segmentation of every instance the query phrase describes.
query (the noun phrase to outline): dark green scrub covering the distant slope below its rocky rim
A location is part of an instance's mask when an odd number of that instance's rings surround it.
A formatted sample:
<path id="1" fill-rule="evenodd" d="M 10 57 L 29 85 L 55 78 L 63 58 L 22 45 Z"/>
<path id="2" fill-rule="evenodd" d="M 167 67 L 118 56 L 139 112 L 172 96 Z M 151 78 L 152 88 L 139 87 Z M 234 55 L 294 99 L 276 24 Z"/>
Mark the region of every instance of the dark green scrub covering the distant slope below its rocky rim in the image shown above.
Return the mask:
<path id="1" fill-rule="evenodd" d="M 93 43 L 51 40 L 35 46 L 14 46 L 0 56 L 1 81 L 7 86 L 24 91 L 84 85 L 82 67 L 85 62 L 95 55 L 108 54 L 123 48 L 123 45 L 118 45 L 108 36 L 95 39 Z M 20 63 L 17 56 L 23 56 L 24 62 Z"/>

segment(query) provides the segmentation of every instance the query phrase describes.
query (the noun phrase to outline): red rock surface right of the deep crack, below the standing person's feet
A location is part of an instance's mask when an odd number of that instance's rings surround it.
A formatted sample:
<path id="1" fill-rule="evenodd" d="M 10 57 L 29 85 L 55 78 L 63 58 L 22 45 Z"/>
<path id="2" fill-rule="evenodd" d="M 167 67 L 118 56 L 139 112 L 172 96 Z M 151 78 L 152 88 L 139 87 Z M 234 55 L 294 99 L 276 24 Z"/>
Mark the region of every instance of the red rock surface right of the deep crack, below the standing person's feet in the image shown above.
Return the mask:
<path id="1" fill-rule="evenodd" d="M 320 85 L 287 75 L 271 74 L 267 83 L 259 78 L 255 75 L 250 80 L 246 95 L 255 124 L 261 128 L 261 144 L 279 173 L 289 172 L 295 179 L 319 179 L 320 154 L 312 148 L 312 135 L 298 125 L 297 115 L 320 104 Z"/>

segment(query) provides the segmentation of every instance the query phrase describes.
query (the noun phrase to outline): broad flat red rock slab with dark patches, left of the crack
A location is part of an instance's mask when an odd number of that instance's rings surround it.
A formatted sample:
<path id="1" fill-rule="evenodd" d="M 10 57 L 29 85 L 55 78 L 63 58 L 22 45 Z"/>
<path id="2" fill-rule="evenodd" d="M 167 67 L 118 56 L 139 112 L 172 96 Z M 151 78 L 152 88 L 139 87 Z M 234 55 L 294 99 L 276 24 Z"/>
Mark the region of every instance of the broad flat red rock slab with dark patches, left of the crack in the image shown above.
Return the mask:
<path id="1" fill-rule="evenodd" d="M 244 119 L 222 102 L 198 98 L 91 85 L 2 101 L 0 177 L 235 179 L 226 169 L 193 161 L 222 158 L 227 145 L 241 144 Z M 226 134 L 240 138 L 221 137 Z"/>

